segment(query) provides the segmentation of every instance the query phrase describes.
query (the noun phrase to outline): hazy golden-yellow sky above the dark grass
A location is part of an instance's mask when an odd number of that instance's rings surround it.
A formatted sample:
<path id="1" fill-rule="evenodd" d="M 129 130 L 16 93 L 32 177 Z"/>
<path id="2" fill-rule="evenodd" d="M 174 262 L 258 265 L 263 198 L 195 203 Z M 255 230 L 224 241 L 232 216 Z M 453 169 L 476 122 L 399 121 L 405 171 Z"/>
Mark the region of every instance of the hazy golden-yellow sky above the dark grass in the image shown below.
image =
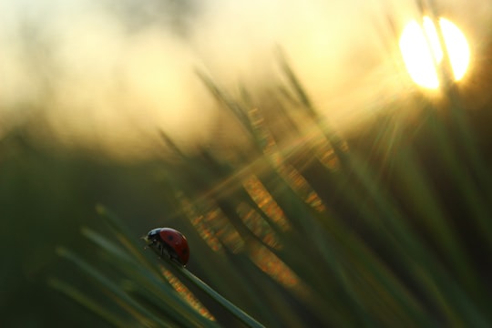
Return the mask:
<path id="1" fill-rule="evenodd" d="M 119 155 L 155 148 L 159 129 L 206 139 L 215 103 L 195 67 L 231 90 L 267 85 L 279 76 L 276 46 L 334 121 L 401 92 L 387 21 L 415 16 L 411 0 L 164 3 L 0 2 L 0 138 L 40 115 L 48 138 Z M 444 3 L 465 33 L 485 37 L 489 1 Z"/>

